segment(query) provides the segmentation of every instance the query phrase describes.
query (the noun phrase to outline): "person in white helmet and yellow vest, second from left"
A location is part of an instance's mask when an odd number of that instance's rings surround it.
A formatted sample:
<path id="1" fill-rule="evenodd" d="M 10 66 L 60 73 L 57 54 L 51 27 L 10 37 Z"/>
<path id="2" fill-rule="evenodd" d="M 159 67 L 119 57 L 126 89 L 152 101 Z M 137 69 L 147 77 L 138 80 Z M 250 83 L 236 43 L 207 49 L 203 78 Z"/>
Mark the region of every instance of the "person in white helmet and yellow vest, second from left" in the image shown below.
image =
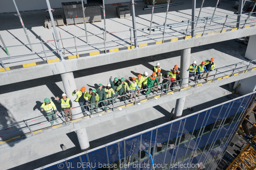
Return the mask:
<path id="1" fill-rule="evenodd" d="M 72 109 L 72 102 L 70 98 L 67 98 L 67 94 L 62 94 L 62 99 L 60 99 L 58 96 L 56 96 L 57 102 L 61 103 L 61 110 L 65 113 L 65 119 L 66 121 L 68 118 L 70 120 L 73 120 L 71 117 L 71 109 Z M 69 117 L 67 117 L 69 116 Z"/>

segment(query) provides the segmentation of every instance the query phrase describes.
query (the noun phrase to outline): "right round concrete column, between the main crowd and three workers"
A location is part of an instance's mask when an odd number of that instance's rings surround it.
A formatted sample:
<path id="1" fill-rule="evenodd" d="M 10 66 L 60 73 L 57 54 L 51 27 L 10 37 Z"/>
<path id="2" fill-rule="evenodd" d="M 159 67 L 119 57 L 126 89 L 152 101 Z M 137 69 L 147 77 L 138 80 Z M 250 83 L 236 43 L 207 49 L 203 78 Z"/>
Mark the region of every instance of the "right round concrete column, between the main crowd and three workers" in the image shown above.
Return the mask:
<path id="1" fill-rule="evenodd" d="M 187 87 L 189 83 L 189 65 L 190 65 L 190 53 L 191 48 L 181 50 L 180 59 L 180 79 L 183 79 L 182 88 Z M 184 85 L 185 84 L 185 85 Z M 174 119 L 178 119 L 182 116 L 183 107 L 186 97 L 182 97 L 176 100 Z"/>

